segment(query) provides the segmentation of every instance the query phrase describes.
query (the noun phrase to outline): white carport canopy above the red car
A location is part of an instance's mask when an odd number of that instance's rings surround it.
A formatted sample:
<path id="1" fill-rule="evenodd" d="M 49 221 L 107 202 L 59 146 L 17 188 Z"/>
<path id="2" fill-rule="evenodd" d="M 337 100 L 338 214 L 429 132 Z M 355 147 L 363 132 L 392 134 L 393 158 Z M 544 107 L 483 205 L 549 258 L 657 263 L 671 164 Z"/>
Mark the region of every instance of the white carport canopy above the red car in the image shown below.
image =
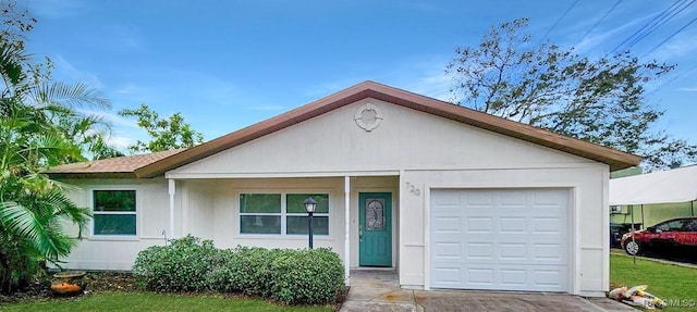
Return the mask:
<path id="1" fill-rule="evenodd" d="M 610 205 L 697 200 L 697 165 L 610 179 Z"/>

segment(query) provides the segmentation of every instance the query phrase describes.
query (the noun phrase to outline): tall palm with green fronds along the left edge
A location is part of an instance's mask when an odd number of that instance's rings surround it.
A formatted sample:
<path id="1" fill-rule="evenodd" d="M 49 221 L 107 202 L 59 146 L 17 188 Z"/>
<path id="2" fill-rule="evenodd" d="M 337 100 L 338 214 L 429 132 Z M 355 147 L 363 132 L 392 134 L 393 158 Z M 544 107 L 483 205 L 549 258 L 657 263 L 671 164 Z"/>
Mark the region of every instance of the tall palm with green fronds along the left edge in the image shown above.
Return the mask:
<path id="1" fill-rule="evenodd" d="M 50 79 L 50 62 L 34 63 L 24 34 L 36 22 L 12 1 L 0 2 L 0 292 L 22 286 L 42 272 L 45 261 L 59 262 L 76 240 L 64 222 L 81 229 L 89 213 L 76 207 L 65 186 L 42 172 L 84 160 L 81 143 L 58 121 L 84 117 L 82 105 L 108 107 L 84 85 Z"/>

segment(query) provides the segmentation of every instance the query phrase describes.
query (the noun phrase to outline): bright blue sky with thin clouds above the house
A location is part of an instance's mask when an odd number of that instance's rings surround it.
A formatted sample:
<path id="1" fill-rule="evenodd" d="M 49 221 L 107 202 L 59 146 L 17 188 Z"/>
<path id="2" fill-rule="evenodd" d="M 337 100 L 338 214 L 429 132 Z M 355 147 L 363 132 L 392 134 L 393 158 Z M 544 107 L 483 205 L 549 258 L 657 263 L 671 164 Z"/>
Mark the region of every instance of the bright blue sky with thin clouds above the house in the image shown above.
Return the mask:
<path id="1" fill-rule="evenodd" d="M 113 109 L 100 113 L 114 124 L 111 141 L 123 147 L 146 135 L 115 112 L 140 103 L 164 116 L 182 112 L 209 140 L 366 79 L 448 99 L 443 70 L 454 48 L 477 45 L 491 25 L 529 17 L 536 38 L 592 58 L 675 2 L 616 3 L 21 0 L 20 7 L 38 20 L 28 50 L 53 60 L 57 79 L 86 83 L 111 100 Z M 649 85 L 648 99 L 665 111 L 659 127 L 697 143 L 697 23 L 689 24 L 697 5 L 684 5 L 632 51 L 677 64 Z"/>

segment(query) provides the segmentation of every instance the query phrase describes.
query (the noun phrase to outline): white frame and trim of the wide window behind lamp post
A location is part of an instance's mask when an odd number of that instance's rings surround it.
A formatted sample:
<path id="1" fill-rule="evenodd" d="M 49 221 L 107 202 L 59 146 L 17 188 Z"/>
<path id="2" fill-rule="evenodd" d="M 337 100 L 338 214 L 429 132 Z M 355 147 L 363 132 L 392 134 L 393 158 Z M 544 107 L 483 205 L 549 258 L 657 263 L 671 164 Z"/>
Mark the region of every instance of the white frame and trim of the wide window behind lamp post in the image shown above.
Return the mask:
<path id="1" fill-rule="evenodd" d="M 269 194 L 269 195 L 280 195 L 281 196 L 281 212 L 280 213 L 272 213 L 272 212 L 260 212 L 260 213 L 248 213 L 248 212 L 241 212 L 240 209 L 242 208 L 241 204 L 242 202 L 240 201 L 240 196 L 244 195 L 244 194 Z M 305 239 L 306 234 L 288 234 L 288 216 L 307 216 L 307 213 L 297 213 L 297 212 L 292 212 L 289 213 L 288 212 L 288 195 L 297 195 L 297 194 L 322 194 L 322 195 L 327 195 L 327 198 L 329 200 L 329 207 L 328 207 L 328 212 L 315 212 L 313 213 L 313 217 L 315 216 L 320 216 L 320 217 L 327 217 L 328 222 L 327 222 L 327 234 L 314 234 L 313 236 L 317 236 L 319 238 L 329 238 L 331 237 L 331 191 L 329 190 L 293 190 L 293 191 L 285 191 L 285 190 L 249 190 L 249 191 L 240 191 L 237 192 L 237 208 L 236 208 L 236 212 L 237 212 L 237 235 L 240 235 L 241 237 L 248 237 L 248 238 L 254 238 L 254 237 L 284 237 L 284 238 L 302 238 Z M 137 209 L 136 209 L 137 210 Z M 242 216 L 243 215 L 273 215 L 273 216 L 281 216 L 281 234 L 261 234 L 261 233 L 242 233 L 242 226 L 241 226 L 241 222 L 242 222 Z"/>

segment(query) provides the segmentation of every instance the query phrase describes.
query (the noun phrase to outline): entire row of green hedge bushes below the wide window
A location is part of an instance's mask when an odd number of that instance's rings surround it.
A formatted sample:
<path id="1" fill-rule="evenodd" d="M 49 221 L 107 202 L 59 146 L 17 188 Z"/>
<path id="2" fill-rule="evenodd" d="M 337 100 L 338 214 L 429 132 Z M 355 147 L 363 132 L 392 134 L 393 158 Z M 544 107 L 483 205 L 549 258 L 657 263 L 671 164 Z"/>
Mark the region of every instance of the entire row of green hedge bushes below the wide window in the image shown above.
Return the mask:
<path id="1" fill-rule="evenodd" d="M 326 304 L 344 289 L 344 267 L 330 249 L 217 249 L 193 236 L 138 253 L 133 273 L 156 291 L 242 292 L 286 304 Z"/>

